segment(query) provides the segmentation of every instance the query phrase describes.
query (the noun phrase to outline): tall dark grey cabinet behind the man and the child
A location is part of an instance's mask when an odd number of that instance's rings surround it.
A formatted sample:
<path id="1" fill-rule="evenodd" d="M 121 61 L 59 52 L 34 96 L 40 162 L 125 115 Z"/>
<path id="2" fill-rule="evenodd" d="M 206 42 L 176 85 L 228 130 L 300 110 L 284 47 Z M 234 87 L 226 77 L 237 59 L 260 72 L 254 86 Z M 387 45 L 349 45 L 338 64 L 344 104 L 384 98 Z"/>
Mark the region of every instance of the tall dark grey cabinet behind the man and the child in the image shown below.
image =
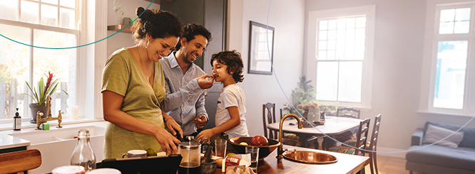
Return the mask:
<path id="1" fill-rule="evenodd" d="M 208 43 L 205 53 L 195 60 L 206 73 L 212 74 L 210 65 L 211 55 L 219 53 L 226 48 L 226 26 L 228 14 L 228 0 L 160 0 L 160 9 L 175 13 L 183 23 L 200 23 L 210 31 L 212 40 Z M 223 85 L 215 82 L 208 89 L 205 107 L 210 120 L 204 129 L 215 127 L 216 101 Z"/>

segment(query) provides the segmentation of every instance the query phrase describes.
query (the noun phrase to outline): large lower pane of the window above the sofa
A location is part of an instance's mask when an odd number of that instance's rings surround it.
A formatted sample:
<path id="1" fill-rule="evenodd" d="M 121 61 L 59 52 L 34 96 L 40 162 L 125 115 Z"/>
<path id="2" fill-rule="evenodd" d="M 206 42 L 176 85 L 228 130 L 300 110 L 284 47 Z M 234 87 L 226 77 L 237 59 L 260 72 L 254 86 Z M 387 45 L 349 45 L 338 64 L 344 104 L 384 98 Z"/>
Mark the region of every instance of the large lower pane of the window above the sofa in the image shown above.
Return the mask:
<path id="1" fill-rule="evenodd" d="M 434 107 L 463 109 L 467 45 L 466 40 L 439 42 Z"/>

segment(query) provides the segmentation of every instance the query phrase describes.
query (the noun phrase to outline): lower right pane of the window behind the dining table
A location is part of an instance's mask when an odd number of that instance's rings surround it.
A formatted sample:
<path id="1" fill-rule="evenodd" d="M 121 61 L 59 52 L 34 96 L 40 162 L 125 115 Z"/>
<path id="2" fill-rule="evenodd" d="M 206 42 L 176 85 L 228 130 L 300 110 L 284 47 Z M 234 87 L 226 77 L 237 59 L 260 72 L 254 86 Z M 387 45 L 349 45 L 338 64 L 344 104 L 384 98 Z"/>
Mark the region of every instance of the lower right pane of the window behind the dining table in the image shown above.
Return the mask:
<path id="1" fill-rule="evenodd" d="M 361 102 L 362 62 L 339 62 L 338 101 Z"/>

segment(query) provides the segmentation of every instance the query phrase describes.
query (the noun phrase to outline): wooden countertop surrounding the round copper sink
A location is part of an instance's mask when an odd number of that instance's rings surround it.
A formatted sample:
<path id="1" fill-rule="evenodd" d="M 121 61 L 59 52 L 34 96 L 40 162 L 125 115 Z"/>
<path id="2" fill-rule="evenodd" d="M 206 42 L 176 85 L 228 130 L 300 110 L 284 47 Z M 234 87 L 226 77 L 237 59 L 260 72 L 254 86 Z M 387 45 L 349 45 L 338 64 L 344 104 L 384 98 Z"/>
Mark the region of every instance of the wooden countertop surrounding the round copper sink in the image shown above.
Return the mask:
<path id="1" fill-rule="evenodd" d="M 295 146 L 286 146 L 289 151 L 297 149 L 297 151 L 316 151 L 320 153 L 328 153 L 338 158 L 337 163 L 332 164 L 305 164 L 282 159 L 277 161 L 277 149 L 264 158 L 264 161 L 259 161 L 257 165 L 257 173 L 289 173 L 289 174 L 305 174 L 305 173 L 357 173 L 362 170 L 364 166 L 369 164 L 369 157 L 354 156 L 344 153 L 334 153 L 330 151 L 321 151 L 312 148 L 300 148 Z M 215 174 L 223 174 L 221 168 L 217 168 Z"/>

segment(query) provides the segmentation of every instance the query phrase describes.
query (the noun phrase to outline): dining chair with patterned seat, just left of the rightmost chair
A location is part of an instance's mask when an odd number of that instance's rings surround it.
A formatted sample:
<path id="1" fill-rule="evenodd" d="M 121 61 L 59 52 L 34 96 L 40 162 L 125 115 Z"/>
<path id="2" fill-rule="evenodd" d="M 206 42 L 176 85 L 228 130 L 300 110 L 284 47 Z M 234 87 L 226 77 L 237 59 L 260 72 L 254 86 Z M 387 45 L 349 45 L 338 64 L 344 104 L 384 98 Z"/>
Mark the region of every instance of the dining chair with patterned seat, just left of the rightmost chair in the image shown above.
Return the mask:
<path id="1" fill-rule="evenodd" d="M 370 119 L 364 119 L 364 121 L 359 122 L 357 138 L 354 144 L 347 143 L 347 145 L 342 144 L 342 146 L 333 146 L 329 148 L 329 150 L 338 153 L 348 153 L 352 155 L 364 156 L 364 151 L 361 151 L 360 149 L 367 150 L 369 148 L 368 144 L 366 143 L 368 137 L 369 122 Z"/>

